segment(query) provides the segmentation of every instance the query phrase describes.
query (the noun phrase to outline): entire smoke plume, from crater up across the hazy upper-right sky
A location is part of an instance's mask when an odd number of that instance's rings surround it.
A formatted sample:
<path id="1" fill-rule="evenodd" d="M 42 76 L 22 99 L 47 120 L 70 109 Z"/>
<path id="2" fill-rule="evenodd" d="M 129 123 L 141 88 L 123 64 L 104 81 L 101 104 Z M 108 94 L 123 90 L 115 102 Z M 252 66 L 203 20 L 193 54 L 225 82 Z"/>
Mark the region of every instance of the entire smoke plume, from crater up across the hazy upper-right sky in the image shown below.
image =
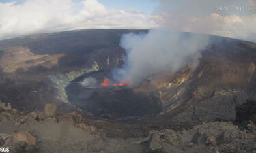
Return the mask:
<path id="1" fill-rule="evenodd" d="M 124 66 L 113 71 L 117 80 L 137 85 L 141 80 L 162 72 L 174 73 L 188 65 L 195 68 L 201 50 L 208 45 L 208 33 L 255 41 L 255 12 L 242 6 L 255 6 L 255 0 L 158 0 L 155 14 L 158 28 L 193 33 L 151 30 L 149 33 L 123 35 L 120 46 L 126 50 Z M 197 4 L 197 5 L 195 5 Z M 218 10 L 218 6 L 233 6 L 237 10 Z"/>

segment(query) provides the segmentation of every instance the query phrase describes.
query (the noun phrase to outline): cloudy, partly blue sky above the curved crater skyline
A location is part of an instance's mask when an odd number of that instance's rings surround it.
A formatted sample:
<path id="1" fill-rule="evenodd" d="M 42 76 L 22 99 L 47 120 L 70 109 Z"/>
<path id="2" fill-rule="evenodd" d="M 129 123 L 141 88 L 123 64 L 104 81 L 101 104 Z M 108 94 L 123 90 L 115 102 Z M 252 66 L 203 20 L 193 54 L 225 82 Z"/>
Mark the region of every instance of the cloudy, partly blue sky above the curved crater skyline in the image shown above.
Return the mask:
<path id="1" fill-rule="evenodd" d="M 0 39 L 73 29 L 172 29 L 256 41 L 256 0 L 0 0 Z"/>

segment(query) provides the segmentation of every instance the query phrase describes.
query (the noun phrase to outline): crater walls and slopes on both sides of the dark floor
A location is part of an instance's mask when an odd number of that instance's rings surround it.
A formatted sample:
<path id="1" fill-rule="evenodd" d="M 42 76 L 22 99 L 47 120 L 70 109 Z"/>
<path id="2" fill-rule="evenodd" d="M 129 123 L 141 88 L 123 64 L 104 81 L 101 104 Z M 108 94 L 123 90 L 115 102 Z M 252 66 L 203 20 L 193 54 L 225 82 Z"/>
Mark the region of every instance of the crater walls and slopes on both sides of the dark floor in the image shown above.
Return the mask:
<path id="1" fill-rule="evenodd" d="M 68 31 L 0 41 L 0 100 L 24 110 L 42 109 L 45 103 L 72 107 L 66 86 L 85 73 L 122 65 L 119 39 L 128 32 Z M 149 78 L 160 95 L 159 117 L 234 120 L 236 105 L 256 99 L 256 45 L 216 36 L 210 42 L 195 69 Z"/>

